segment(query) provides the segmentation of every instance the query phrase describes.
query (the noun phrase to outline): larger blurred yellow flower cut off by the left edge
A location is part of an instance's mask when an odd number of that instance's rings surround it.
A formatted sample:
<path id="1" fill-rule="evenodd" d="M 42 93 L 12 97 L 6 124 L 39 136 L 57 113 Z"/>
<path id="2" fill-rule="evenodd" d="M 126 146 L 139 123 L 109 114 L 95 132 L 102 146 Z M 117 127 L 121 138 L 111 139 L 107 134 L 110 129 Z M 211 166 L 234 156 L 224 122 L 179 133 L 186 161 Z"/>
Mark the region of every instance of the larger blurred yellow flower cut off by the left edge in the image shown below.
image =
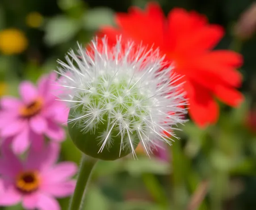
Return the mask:
<path id="1" fill-rule="evenodd" d="M 25 34 L 16 28 L 0 31 L 0 51 L 5 55 L 19 54 L 28 46 Z"/>

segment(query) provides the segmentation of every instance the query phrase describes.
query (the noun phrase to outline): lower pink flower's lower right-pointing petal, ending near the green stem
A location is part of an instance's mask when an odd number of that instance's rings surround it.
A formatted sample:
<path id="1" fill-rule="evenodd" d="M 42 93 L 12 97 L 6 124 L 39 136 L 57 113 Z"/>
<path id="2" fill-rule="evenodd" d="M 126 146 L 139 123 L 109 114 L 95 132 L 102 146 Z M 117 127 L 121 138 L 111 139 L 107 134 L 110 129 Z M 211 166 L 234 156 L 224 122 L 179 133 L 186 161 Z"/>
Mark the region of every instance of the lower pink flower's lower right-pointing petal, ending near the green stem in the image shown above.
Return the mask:
<path id="1" fill-rule="evenodd" d="M 55 183 L 55 184 L 44 184 L 42 185 L 42 191 L 57 197 L 57 198 L 63 198 L 70 196 L 74 193 L 76 186 L 76 181 L 71 180 L 67 182 L 61 182 L 61 183 Z"/>

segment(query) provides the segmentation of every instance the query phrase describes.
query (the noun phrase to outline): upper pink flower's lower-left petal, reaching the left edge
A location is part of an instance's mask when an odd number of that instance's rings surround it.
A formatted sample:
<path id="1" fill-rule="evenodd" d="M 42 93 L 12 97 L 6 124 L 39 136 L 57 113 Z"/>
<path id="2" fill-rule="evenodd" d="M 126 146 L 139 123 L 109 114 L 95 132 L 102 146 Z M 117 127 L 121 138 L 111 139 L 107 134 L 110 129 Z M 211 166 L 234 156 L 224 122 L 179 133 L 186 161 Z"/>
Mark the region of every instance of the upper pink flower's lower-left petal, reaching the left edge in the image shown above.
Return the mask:
<path id="1" fill-rule="evenodd" d="M 16 134 L 19 135 L 18 133 L 20 133 L 22 129 L 25 128 L 25 125 L 25 120 L 16 119 L 15 121 L 8 122 L 8 124 L 6 126 L 3 126 L 1 129 L 1 137 L 9 137 L 14 136 Z"/>

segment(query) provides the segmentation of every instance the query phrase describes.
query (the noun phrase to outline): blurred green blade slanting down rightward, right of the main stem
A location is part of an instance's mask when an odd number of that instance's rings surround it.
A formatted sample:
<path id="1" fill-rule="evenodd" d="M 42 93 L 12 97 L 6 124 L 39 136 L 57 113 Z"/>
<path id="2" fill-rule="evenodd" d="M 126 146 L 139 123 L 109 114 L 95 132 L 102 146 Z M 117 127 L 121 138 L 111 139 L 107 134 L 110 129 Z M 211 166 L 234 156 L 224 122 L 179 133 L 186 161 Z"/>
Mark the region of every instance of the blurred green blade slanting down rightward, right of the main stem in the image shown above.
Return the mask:
<path id="1" fill-rule="evenodd" d="M 167 209 L 168 200 L 166 198 L 166 194 L 154 174 L 142 174 L 142 179 L 154 200 L 164 209 Z"/>

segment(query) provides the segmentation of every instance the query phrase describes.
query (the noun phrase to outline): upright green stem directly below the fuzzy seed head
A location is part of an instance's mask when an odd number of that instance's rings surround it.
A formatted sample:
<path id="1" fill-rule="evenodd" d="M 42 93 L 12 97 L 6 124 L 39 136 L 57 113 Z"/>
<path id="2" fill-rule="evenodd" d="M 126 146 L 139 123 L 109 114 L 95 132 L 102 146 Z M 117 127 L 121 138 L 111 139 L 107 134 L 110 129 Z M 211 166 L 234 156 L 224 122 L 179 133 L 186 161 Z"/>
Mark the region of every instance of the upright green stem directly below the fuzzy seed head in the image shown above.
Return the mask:
<path id="1" fill-rule="evenodd" d="M 69 210 L 80 210 L 84 200 L 85 188 L 88 185 L 97 159 L 83 155 L 76 182 L 75 192 L 69 204 Z"/>

